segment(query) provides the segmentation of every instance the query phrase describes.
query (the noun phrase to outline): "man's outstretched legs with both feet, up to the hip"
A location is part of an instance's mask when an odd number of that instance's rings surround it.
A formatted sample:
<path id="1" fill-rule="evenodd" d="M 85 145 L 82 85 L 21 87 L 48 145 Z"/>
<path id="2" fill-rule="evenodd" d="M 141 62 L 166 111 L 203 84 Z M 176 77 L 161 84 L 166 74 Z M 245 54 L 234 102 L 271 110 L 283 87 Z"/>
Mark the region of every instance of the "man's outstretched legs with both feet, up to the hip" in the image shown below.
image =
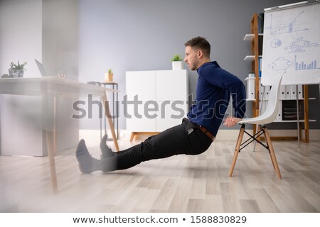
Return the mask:
<path id="1" fill-rule="evenodd" d="M 105 145 L 106 138 L 107 136 L 105 135 L 100 143 L 102 155 L 107 156 L 107 158 L 102 160 L 93 158 L 85 146 L 85 140 L 80 140 L 76 150 L 76 157 L 81 172 L 124 170 L 146 160 L 170 157 L 183 153 L 181 144 L 186 140 L 186 130 L 183 124 L 181 124 L 169 128 L 159 135 L 153 135 L 144 140 L 144 142 L 134 145 L 132 148 L 127 148 L 117 153 L 113 153 Z"/>

